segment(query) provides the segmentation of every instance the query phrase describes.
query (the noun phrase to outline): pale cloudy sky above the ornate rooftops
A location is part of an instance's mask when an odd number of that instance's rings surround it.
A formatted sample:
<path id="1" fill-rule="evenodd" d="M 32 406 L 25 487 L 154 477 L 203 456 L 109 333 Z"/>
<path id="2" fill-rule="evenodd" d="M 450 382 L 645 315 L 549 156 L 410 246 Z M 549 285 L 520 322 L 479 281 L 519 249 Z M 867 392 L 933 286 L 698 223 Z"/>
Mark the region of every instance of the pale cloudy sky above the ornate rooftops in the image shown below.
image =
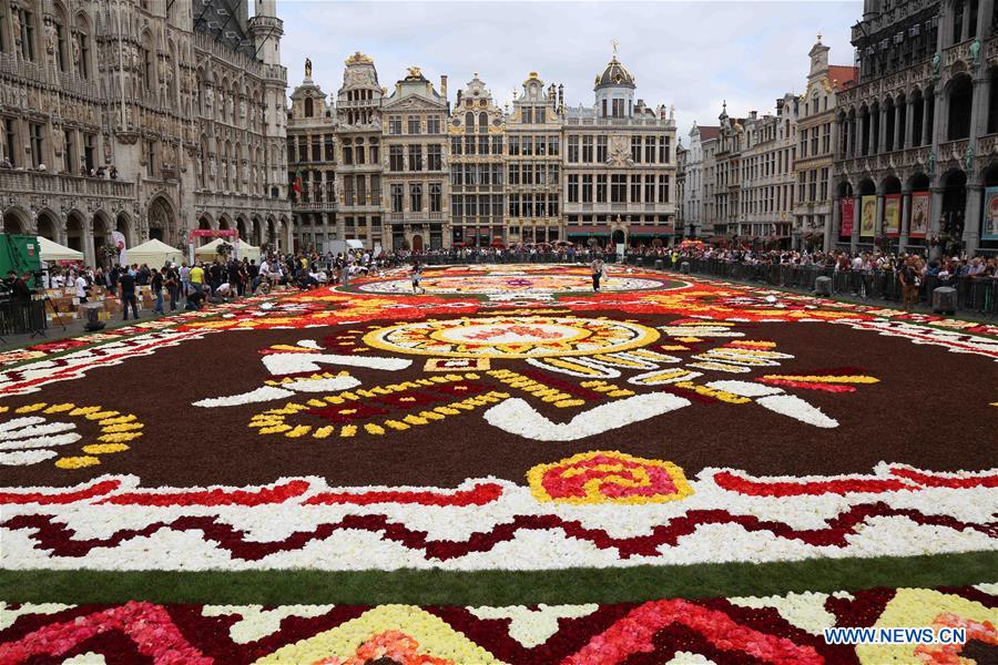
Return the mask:
<path id="1" fill-rule="evenodd" d="M 546 83 L 564 84 L 566 104 L 591 105 L 593 78 L 617 39 L 638 96 L 652 108 L 674 105 L 686 143 L 694 120 L 716 124 L 722 100 L 742 115 L 802 92 L 818 32 L 833 64 L 852 64 L 849 27 L 863 3 L 278 0 L 277 13 L 288 85 L 301 83 L 312 58 L 313 79 L 326 94 L 336 93 L 344 59 L 359 50 L 374 58 L 389 90 L 418 65 L 435 84 L 447 74 L 454 101 L 479 72 L 503 104 L 537 71 Z"/>

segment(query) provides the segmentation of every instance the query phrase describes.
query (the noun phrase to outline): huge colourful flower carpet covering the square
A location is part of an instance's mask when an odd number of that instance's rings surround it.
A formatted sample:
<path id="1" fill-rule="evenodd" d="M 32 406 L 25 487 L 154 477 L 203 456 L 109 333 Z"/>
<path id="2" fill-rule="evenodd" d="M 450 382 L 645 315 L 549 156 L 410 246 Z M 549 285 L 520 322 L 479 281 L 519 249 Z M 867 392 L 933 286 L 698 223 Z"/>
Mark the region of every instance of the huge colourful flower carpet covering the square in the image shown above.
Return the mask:
<path id="1" fill-rule="evenodd" d="M 11 356 L 0 663 L 994 662 L 994 326 L 627 267 L 424 286 Z"/>

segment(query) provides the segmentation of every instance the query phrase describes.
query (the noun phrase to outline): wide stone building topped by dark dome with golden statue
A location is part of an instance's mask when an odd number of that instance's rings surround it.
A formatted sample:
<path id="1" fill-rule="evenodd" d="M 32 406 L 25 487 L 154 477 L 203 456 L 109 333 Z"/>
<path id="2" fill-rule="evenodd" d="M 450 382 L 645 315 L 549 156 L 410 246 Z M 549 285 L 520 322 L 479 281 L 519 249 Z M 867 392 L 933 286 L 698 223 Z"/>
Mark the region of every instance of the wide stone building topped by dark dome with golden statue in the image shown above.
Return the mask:
<path id="1" fill-rule="evenodd" d="M 592 108 L 566 110 L 564 216 L 569 241 L 668 239 L 675 226 L 675 121 L 634 101 L 617 59 L 595 78 Z"/>

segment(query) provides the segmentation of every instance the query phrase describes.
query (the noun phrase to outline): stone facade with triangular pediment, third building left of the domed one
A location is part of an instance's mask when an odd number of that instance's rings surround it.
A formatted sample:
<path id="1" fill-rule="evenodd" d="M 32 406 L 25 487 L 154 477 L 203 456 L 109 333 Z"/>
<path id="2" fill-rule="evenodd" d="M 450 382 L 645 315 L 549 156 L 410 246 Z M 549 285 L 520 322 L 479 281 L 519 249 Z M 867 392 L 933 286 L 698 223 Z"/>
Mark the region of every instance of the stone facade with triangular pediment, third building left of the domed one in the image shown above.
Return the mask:
<path id="1" fill-rule="evenodd" d="M 381 102 L 381 195 L 388 207 L 381 229 L 384 247 L 442 247 L 449 232 L 445 215 L 450 183 L 444 133 L 449 115 L 446 85 L 444 78 L 441 92 L 437 92 L 418 66 L 410 66 Z"/>

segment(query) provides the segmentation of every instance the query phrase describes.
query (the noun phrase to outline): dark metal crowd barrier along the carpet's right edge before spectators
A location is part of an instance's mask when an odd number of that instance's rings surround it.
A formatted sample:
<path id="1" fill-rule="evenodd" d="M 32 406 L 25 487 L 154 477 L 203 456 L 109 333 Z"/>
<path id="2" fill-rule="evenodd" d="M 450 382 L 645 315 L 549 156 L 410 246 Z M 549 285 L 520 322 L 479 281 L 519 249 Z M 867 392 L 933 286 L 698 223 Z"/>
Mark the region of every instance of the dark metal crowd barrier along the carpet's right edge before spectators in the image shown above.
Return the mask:
<path id="1" fill-rule="evenodd" d="M 643 265 L 648 265 L 649 258 L 654 259 L 654 257 L 645 256 Z M 662 259 L 666 269 L 673 269 L 672 262 L 668 257 L 662 257 Z M 689 263 L 690 270 L 697 275 L 735 282 L 761 283 L 806 293 L 814 291 L 814 284 L 818 277 L 829 277 L 833 295 L 848 295 L 887 303 L 902 301 L 902 288 L 897 275 L 889 270 L 853 273 L 838 272 L 824 266 L 744 264 L 699 258 L 681 259 L 675 269 L 679 269 L 679 265 L 683 262 Z M 919 301 L 931 305 L 933 290 L 940 286 L 956 289 L 957 310 L 989 317 L 998 315 L 998 279 L 981 277 L 939 279 L 936 276 L 928 276 L 921 280 Z"/>

